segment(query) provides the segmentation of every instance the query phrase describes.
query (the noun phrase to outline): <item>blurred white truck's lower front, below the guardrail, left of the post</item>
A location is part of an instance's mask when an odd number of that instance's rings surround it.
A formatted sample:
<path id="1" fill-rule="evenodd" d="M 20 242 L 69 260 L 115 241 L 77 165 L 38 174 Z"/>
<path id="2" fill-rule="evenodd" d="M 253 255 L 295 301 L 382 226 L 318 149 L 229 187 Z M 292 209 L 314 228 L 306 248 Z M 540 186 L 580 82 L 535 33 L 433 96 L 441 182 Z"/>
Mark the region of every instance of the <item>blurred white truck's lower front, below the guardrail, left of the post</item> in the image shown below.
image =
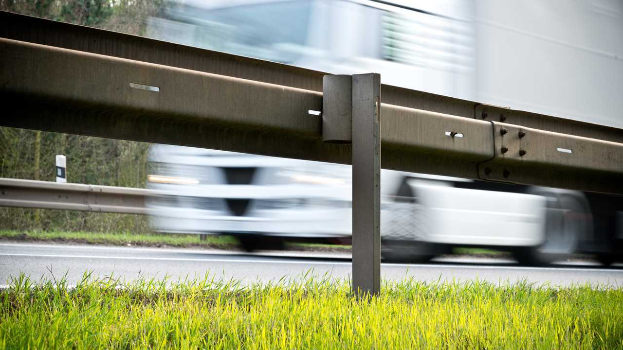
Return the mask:
<path id="1" fill-rule="evenodd" d="M 161 232 L 235 235 L 247 250 L 259 236 L 350 237 L 344 166 L 168 145 L 151 146 L 150 164 L 150 188 L 170 194 L 149 204 Z"/>

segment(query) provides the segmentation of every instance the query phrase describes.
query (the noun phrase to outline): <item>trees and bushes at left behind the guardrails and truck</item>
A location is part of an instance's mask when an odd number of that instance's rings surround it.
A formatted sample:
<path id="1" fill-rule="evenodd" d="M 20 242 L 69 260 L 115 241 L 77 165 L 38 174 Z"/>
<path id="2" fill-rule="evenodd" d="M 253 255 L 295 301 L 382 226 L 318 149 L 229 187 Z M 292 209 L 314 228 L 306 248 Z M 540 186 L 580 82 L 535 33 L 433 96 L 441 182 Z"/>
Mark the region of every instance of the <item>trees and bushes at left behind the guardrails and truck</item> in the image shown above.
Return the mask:
<path id="1" fill-rule="evenodd" d="M 0 10 L 142 35 L 164 16 L 164 0 L 0 0 Z M 145 187 L 149 144 L 0 127 L 0 177 L 55 181 L 55 155 L 67 156 L 67 181 Z M 149 230 L 142 215 L 0 207 L 0 229 Z"/>

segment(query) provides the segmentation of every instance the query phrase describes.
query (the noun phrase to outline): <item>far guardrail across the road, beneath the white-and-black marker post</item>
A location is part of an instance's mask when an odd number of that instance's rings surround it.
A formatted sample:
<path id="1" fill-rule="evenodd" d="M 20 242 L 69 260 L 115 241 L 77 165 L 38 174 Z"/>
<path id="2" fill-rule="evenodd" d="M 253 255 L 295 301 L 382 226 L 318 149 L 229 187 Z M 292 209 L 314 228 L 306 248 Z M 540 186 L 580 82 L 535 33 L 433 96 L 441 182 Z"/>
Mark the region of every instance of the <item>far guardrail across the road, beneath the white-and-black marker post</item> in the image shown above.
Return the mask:
<path id="1" fill-rule="evenodd" d="M 154 191 L 126 187 L 0 179 L 0 206 L 147 214 Z"/>

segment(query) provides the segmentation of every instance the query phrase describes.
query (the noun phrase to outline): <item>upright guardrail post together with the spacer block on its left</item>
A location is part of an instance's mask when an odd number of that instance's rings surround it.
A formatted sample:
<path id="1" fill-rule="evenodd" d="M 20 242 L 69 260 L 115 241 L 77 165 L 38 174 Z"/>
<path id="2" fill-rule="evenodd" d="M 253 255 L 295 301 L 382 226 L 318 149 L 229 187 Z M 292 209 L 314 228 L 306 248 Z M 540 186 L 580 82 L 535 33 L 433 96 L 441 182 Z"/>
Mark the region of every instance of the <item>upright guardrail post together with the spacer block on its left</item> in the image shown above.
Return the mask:
<path id="1" fill-rule="evenodd" d="M 323 140 L 352 143 L 353 291 L 381 288 L 381 75 L 325 75 Z"/>

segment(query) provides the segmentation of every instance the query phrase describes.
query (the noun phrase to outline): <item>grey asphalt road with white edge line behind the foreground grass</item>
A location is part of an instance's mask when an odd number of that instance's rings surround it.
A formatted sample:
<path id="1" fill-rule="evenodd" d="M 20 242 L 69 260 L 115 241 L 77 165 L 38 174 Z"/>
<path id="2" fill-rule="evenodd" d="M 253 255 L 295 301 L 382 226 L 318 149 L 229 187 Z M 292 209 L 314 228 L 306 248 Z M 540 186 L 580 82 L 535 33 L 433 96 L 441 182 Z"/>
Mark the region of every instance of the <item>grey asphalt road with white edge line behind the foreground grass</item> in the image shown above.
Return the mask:
<path id="1" fill-rule="evenodd" d="M 219 250 L 105 247 L 60 244 L 0 244 L 0 284 L 25 273 L 31 278 L 59 278 L 66 274 L 75 284 L 85 271 L 98 277 L 113 275 L 122 280 L 139 277 L 234 278 L 242 283 L 301 277 L 305 273 L 349 278 L 346 254 L 309 252 L 264 252 L 247 254 Z M 381 277 L 405 277 L 426 281 L 467 281 L 478 278 L 493 283 L 527 280 L 537 285 L 591 283 L 623 285 L 623 265 L 602 267 L 594 262 L 557 263 L 551 267 L 523 267 L 511 260 L 486 258 L 441 258 L 426 264 L 383 263 Z"/>

